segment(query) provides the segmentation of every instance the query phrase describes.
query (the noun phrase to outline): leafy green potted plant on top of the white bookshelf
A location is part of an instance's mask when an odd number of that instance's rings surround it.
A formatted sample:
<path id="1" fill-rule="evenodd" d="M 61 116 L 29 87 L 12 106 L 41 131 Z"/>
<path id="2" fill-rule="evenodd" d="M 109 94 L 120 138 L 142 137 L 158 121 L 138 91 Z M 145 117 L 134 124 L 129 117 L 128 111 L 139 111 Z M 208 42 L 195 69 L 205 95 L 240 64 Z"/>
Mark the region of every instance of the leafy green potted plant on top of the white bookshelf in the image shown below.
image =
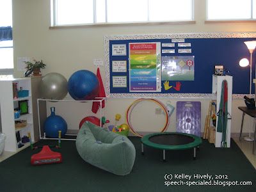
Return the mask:
<path id="1" fill-rule="evenodd" d="M 31 74 L 31 72 L 33 72 L 33 76 L 42 76 L 40 74 L 41 72 L 41 68 L 45 68 L 45 63 L 43 62 L 43 60 L 41 61 L 36 61 L 33 60 L 33 63 L 30 61 L 24 61 L 26 63 L 26 69 L 27 72 L 25 73 L 25 76 L 29 76 L 29 74 Z"/>

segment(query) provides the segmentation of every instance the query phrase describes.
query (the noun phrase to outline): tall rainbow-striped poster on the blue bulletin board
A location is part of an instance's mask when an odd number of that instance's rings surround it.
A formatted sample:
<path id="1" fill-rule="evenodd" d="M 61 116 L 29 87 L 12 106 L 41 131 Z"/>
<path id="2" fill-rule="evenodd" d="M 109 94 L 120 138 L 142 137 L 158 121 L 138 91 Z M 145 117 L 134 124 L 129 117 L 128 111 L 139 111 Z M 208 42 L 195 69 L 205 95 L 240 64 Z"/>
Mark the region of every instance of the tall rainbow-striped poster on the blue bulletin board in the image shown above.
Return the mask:
<path id="1" fill-rule="evenodd" d="M 161 92 L 161 44 L 129 44 L 129 91 Z"/>

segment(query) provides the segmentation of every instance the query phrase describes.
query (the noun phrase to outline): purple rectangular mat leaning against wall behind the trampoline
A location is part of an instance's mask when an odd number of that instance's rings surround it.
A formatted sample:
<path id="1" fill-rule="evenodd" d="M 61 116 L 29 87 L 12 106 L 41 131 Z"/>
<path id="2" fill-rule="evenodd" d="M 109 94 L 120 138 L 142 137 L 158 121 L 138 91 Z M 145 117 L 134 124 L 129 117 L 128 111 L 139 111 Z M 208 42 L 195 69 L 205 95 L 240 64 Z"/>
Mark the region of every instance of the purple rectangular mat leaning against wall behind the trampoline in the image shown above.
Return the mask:
<path id="1" fill-rule="evenodd" d="M 178 101 L 176 131 L 201 136 L 201 102 Z"/>

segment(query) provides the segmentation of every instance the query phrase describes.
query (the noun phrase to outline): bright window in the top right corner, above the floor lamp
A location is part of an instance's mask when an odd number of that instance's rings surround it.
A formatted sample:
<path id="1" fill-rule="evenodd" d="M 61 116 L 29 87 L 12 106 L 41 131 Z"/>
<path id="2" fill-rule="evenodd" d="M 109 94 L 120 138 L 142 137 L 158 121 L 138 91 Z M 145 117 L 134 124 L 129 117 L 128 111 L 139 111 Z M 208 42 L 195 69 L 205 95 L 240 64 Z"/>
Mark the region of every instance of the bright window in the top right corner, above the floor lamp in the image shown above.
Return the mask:
<path id="1" fill-rule="evenodd" d="M 207 0 L 208 20 L 256 19 L 256 0 Z"/>

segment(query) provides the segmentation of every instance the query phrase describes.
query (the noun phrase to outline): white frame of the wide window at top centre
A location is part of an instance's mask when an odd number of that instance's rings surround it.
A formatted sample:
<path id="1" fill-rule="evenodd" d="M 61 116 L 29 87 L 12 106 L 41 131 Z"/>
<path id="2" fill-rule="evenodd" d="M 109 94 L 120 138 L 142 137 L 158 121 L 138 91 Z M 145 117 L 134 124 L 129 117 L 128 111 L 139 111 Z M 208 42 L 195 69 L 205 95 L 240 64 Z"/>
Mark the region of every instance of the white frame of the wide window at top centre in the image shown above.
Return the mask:
<path id="1" fill-rule="evenodd" d="M 150 21 L 149 16 L 147 17 L 148 20 L 145 21 L 140 21 L 140 22 L 108 22 L 108 13 L 107 13 L 107 0 L 105 0 L 105 18 L 106 22 L 97 22 L 97 17 L 96 17 L 96 2 L 97 0 L 94 1 L 94 10 L 93 10 L 93 23 L 88 23 L 88 24 L 65 24 L 65 25 L 58 25 L 57 24 L 57 12 L 58 10 L 56 9 L 56 0 L 51 0 L 51 27 L 50 28 L 58 28 L 61 26 L 93 26 L 93 25 L 115 25 L 115 24 L 154 24 L 154 23 L 174 23 L 174 24 L 194 24 L 195 23 L 195 2 L 194 0 L 191 0 L 191 19 L 189 20 L 164 20 L 164 21 Z M 139 0 L 140 1 L 140 0 Z M 149 13 L 148 13 L 149 14 Z"/>

